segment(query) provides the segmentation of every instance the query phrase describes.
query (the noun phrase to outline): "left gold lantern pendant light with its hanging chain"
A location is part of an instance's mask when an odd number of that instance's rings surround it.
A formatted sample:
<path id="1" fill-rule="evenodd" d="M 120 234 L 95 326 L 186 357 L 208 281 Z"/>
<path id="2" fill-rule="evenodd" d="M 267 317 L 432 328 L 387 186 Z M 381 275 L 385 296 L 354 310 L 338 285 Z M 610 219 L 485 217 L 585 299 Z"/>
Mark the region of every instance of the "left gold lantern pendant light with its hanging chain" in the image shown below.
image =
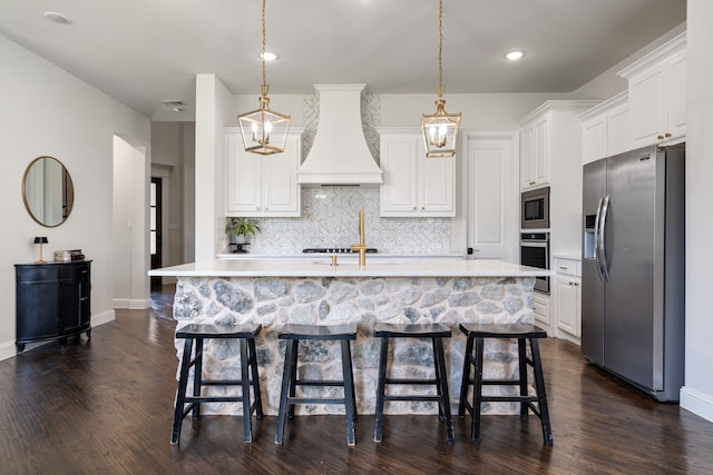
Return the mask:
<path id="1" fill-rule="evenodd" d="M 290 116 L 270 110 L 270 85 L 265 81 L 265 0 L 263 0 L 263 83 L 260 108 L 237 116 L 245 151 L 260 155 L 280 154 L 285 149 Z"/>

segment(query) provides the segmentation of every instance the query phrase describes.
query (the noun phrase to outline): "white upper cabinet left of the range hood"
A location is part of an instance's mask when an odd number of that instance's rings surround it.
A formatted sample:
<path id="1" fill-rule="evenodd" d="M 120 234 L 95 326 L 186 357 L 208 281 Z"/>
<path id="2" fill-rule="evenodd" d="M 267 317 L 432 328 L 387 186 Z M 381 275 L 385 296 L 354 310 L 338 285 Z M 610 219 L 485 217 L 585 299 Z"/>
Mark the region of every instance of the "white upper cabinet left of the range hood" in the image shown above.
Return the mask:
<path id="1" fill-rule="evenodd" d="M 301 129 L 291 130 L 285 151 L 262 156 L 245 151 L 237 128 L 225 129 L 225 216 L 300 216 L 301 135 Z"/>

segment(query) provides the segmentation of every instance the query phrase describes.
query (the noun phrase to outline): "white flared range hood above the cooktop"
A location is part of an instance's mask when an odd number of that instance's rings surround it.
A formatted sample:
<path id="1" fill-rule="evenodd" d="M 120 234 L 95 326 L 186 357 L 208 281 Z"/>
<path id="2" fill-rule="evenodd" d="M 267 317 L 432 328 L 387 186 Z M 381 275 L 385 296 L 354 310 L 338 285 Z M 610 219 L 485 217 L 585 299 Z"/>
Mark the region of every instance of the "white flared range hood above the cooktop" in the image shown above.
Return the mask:
<path id="1" fill-rule="evenodd" d="M 364 138 L 361 93 L 367 85 L 314 85 L 320 123 L 310 154 L 297 170 L 299 184 L 382 184 L 382 171 Z"/>

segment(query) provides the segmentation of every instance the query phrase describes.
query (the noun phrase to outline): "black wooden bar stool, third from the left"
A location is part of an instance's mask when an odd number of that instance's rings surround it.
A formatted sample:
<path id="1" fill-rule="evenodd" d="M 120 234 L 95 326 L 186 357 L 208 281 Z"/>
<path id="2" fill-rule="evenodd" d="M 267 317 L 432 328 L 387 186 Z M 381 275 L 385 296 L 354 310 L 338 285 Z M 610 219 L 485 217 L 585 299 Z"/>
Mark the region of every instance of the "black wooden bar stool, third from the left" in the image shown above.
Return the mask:
<path id="1" fill-rule="evenodd" d="M 439 418 L 441 420 L 446 420 L 446 438 L 449 444 L 453 444 L 453 420 L 450 414 L 450 397 L 448 396 L 448 377 L 446 373 L 446 357 L 443 353 L 443 338 L 450 338 L 450 328 L 441 324 L 374 325 L 374 337 L 381 338 L 374 442 L 381 442 L 382 439 L 384 400 L 433 400 L 438 402 Z M 387 359 L 389 356 L 389 342 L 391 338 L 431 338 L 431 343 L 433 345 L 433 366 L 436 372 L 433 379 L 389 377 L 387 375 Z M 387 395 L 387 385 L 432 385 L 436 386 L 436 395 Z"/>

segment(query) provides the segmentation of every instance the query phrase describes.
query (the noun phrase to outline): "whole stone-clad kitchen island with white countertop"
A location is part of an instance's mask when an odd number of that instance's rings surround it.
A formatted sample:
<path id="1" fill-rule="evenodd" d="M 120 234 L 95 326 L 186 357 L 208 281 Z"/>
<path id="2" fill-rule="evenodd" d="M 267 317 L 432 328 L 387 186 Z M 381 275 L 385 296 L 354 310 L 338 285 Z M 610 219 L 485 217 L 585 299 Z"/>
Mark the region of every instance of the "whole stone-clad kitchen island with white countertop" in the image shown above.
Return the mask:
<path id="1" fill-rule="evenodd" d="M 215 259 L 149 271 L 152 276 L 178 278 L 174 318 L 180 328 L 189 323 L 233 325 L 246 321 L 263 326 L 257 339 L 261 387 L 266 414 L 277 414 L 284 342 L 277 329 L 285 324 L 336 325 L 356 323 L 352 346 L 356 405 L 361 414 L 373 414 L 379 365 L 379 340 L 372 337 L 375 321 L 442 323 L 452 328 L 445 342 L 451 404 L 460 392 L 465 338 L 458 324 L 533 321 L 533 291 L 536 276 L 545 269 L 499 260 L 466 259 L 367 259 L 340 256 L 312 259 Z M 485 373 L 508 377 L 517 372 L 517 345 L 508 340 L 488 342 Z M 183 342 L 176 342 L 178 360 Z M 397 340 L 389 358 L 393 377 L 428 376 L 432 373 L 429 340 Z M 300 348 L 301 372 L 318 378 L 341 377 L 339 345 L 312 342 Z M 206 344 L 206 377 L 226 378 L 240 374 L 237 344 L 215 340 Z M 311 390 L 335 390 L 310 388 Z M 499 390 L 498 388 L 489 388 Z M 510 388 L 508 388 L 510 389 Z M 399 387 L 394 392 L 418 393 L 430 387 Z M 505 390 L 505 389 L 504 389 Z M 236 407 L 237 406 L 237 407 Z M 332 414 L 335 406 L 297 406 L 297 414 Z M 430 414 L 432 403 L 393 402 L 388 414 Z M 515 414 L 512 403 L 491 404 L 484 413 Z M 240 415 L 235 404 L 206 405 L 205 414 Z"/>

